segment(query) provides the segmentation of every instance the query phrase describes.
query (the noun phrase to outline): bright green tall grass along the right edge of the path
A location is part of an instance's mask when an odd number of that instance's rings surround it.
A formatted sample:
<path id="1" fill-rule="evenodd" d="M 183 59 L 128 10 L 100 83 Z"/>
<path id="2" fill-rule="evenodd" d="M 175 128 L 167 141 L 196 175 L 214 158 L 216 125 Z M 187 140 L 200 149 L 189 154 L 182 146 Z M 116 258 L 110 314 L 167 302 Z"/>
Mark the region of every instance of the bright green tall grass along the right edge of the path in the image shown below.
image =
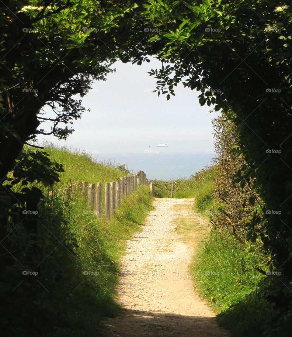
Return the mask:
<path id="1" fill-rule="evenodd" d="M 258 294 L 265 276 L 254 269 L 265 262 L 253 246 L 242 247 L 228 231 L 218 230 L 210 232 L 194 257 L 191 271 L 197 290 L 232 336 L 263 336 L 271 323 L 272 305 Z"/>

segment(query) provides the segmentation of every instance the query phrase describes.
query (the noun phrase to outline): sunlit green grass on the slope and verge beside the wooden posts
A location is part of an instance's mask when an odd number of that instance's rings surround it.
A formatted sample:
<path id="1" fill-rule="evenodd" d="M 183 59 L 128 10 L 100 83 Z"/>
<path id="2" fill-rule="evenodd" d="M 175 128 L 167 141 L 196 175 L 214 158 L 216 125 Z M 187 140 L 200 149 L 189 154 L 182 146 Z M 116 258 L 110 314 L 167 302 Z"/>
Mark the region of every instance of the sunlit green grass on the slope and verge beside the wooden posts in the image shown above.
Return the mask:
<path id="1" fill-rule="evenodd" d="M 81 191 L 71 193 L 67 199 L 62 193 L 63 188 L 75 181 L 101 182 L 104 205 L 104 183 L 115 181 L 116 178 L 127 175 L 127 172 L 111 163 L 98 163 L 84 151 L 52 144 L 46 144 L 45 149 L 40 151 L 49 153 L 51 160 L 63 164 L 65 170 L 60 175 L 61 181 L 54 186 L 52 195 L 49 193 L 52 192 L 51 187 L 43 188 L 47 196 L 47 203 L 40 210 L 44 224 L 47 228 L 50 228 L 52 222 L 57 226 L 68 226 L 68 231 L 74 233 L 77 242 L 74 247 L 75 257 L 69 254 L 68 270 L 51 271 L 70 275 L 68 282 L 74 279 L 74 292 L 67 303 L 59 303 L 58 299 L 52 297 L 52 301 L 63 308 L 60 321 L 64 327 L 60 328 L 56 322 L 58 329 L 55 336 L 71 336 L 72 333 L 81 336 L 85 332 L 95 334 L 101 318 L 114 315 L 120 308 L 114 301 L 119 259 L 126 247 L 126 240 L 142 230 L 148 211 L 152 209 L 153 197 L 148 186 L 141 186 L 139 190 L 122 198 L 120 207 L 110 220 L 105 219 L 104 215 L 98 219 L 95 212 L 89 209 Z M 66 223 L 59 220 L 60 213 L 65 214 Z M 60 242 L 61 239 L 59 238 Z M 74 269 L 72 264 L 76 265 Z M 86 276 L 84 282 L 83 271 L 94 274 Z"/>

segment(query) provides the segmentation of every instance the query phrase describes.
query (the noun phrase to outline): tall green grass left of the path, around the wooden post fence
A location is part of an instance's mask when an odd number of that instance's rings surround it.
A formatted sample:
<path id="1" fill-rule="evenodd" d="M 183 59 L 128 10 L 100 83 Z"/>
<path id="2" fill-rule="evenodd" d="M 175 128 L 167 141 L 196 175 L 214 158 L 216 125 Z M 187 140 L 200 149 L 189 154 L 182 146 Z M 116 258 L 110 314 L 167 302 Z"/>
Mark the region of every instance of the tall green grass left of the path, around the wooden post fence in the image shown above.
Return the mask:
<path id="1" fill-rule="evenodd" d="M 52 160 L 63 164 L 65 172 L 60 175 L 61 182 L 54 186 L 52 194 L 49 193 L 51 187 L 38 186 L 46 195 L 45 201 L 39 205 L 43 246 L 38 262 L 43 262 L 39 265 L 38 281 L 53 290 L 47 293 L 40 287 L 40 292 L 35 293 L 38 310 L 20 293 L 23 301 L 29 303 L 27 312 L 34 315 L 31 336 L 40 335 L 40 331 L 44 336 L 58 337 L 98 335 L 101 318 L 120 310 L 115 302 L 119 259 L 127 240 L 142 230 L 153 197 L 148 187 L 141 186 L 122 198 L 120 207 L 110 220 L 104 216 L 98 219 L 88 208 L 81 192 L 67 198 L 62 193 L 63 187 L 69 181 L 115 181 L 126 174 L 123 167 L 103 165 L 93 161 L 85 152 L 51 144 L 47 144 L 44 151 L 51 155 Z M 37 263 L 27 265 L 27 269 L 35 265 Z M 18 284 L 17 280 L 13 283 Z M 48 317 L 45 331 L 42 327 L 44 315 Z M 12 332 L 10 335 L 14 336 Z"/>

